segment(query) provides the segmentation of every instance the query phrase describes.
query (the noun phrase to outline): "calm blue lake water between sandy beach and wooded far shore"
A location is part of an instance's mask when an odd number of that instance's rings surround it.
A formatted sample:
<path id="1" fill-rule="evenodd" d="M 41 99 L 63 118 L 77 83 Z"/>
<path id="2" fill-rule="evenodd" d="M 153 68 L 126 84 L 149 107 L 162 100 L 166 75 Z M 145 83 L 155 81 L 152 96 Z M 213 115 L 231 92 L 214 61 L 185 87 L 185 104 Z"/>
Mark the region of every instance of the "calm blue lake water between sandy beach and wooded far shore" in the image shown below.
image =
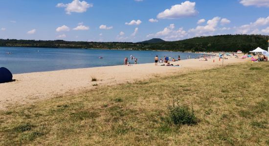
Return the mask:
<path id="1" fill-rule="evenodd" d="M 156 55 L 159 58 L 165 55 L 176 59 L 178 55 L 181 59 L 186 59 L 189 55 L 191 58 L 198 56 L 191 53 L 159 51 L 0 47 L 0 67 L 5 67 L 16 74 L 113 66 L 122 65 L 125 57 L 131 61 L 130 55 L 137 58 L 138 64 L 153 63 Z M 99 56 L 103 56 L 103 59 L 99 59 Z"/>

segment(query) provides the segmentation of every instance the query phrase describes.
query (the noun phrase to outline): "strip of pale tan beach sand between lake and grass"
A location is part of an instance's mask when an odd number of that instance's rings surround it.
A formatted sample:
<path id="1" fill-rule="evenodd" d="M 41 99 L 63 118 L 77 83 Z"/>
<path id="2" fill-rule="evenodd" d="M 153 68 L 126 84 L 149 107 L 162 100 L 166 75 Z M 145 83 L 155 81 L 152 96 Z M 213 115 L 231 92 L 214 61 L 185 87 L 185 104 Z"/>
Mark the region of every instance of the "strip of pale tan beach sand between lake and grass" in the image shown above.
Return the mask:
<path id="1" fill-rule="evenodd" d="M 213 59 L 215 62 L 213 62 Z M 224 65 L 241 63 L 249 59 L 228 57 Z M 85 69 L 71 69 L 52 72 L 14 74 L 14 82 L 0 84 L 0 109 L 9 106 L 36 102 L 63 94 L 99 88 L 101 86 L 135 82 L 150 77 L 165 76 L 194 70 L 205 70 L 222 65 L 219 58 L 187 59 L 171 64 L 180 67 L 155 66 L 154 63 L 137 64 L 133 66 L 110 66 Z M 97 79 L 92 82 L 91 78 Z M 98 86 L 92 86 L 98 84 Z"/>

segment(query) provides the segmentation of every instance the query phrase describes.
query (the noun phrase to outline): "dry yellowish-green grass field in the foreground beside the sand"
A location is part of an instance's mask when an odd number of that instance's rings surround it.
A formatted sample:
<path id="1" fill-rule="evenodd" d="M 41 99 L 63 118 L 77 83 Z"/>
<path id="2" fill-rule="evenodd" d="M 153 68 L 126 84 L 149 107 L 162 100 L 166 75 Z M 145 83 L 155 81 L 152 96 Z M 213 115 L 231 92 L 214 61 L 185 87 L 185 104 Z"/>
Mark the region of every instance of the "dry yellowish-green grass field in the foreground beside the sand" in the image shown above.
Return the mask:
<path id="1" fill-rule="evenodd" d="M 173 100 L 197 123 L 169 121 Z M 246 63 L 0 111 L 0 145 L 269 145 L 269 63 Z"/>

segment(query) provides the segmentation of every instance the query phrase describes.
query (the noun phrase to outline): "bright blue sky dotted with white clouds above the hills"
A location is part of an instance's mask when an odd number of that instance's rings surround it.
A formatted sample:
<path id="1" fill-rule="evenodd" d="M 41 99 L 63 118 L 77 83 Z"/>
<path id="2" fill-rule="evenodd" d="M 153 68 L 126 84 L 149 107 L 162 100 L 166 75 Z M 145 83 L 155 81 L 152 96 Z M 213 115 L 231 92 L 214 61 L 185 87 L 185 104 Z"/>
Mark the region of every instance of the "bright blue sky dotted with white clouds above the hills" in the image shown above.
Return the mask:
<path id="1" fill-rule="evenodd" d="M 166 41 L 269 35 L 269 0 L 0 0 L 0 38 Z"/>

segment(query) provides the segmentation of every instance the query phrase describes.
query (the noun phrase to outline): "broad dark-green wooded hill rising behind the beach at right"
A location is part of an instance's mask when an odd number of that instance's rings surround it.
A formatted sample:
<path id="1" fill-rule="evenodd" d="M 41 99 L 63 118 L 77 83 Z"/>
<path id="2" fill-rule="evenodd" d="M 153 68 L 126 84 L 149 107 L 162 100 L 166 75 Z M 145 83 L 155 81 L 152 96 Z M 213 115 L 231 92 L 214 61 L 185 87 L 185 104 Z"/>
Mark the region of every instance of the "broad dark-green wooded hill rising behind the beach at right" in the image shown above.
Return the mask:
<path id="1" fill-rule="evenodd" d="M 182 52 L 236 52 L 237 50 L 249 52 L 257 47 L 267 50 L 268 40 L 269 36 L 263 35 L 220 35 L 148 44 L 144 48 Z"/>

